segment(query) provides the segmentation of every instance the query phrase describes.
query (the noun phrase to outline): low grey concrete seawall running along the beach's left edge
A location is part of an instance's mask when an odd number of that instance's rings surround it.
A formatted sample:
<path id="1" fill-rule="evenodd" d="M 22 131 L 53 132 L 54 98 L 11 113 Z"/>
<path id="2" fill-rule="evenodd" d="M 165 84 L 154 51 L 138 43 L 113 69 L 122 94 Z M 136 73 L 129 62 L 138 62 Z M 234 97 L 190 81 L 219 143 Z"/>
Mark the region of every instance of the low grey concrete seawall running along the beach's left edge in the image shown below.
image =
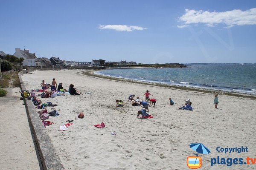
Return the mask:
<path id="1" fill-rule="evenodd" d="M 18 73 L 20 79 L 20 90 L 26 90 L 25 85 L 23 84 L 23 80 L 21 76 L 23 76 L 25 71 L 20 71 Z M 29 124 L 32 127 L 32 133 L 35 137 L 36 145 L 35 148 L 38 148 L 38 153 L 41 159 L 42 167 L 44 170 L 64 170 L 64 166 L 61 163 L 61 159 L 59 158 L 55 147 L 52 144 L 52 141 L 42 124 L 41 119 L 38 116 L 37 111 L 35 110 L 35 106 L 31 100 L 23 99 L 25 103 L 26 113 L 28 115 Z"/>

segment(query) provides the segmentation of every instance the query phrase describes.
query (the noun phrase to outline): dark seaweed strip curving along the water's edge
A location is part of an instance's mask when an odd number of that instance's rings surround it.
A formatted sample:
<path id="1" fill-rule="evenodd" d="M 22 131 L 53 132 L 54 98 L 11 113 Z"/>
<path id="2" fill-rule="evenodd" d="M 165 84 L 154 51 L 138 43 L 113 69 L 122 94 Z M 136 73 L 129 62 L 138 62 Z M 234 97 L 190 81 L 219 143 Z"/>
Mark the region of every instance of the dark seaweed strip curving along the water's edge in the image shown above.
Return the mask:
<path id="1" fill-rule="evenodd" d="M 81 71 L 79 73 L 90 76 L 90 77 L 98 77 L 102 79 L 109 79 L 109 80 L 115 80 L 120 82 L 131 82 L 135 84 L 143 84 L 143 85 L 150 85 L 150 86 L 157 86 L 162 88 L 170 88 L 170 89 L 178 89 L 178 90 L 185 90 L 185 91 L 197 91 L 197 92 L 203 92 L 203 93 L 209 93 L 209 94 L 221 94 L 221 95 L 227 95 L 227 96 L 236 96 L 236 97 L 243 97 L 243 98 L 249 98 L 256 100 L 256 96 L 250 95 L 250 94 L 243 94 L 238 92 L 228 92 L 228 91 L 222 91 L 222 90 L 213 90 L 213 89 L 203 89 L 203 88 L 196 88 L 196 87 L 186 87 L 186 86 L 178 86 L 178 85 L 168 85 L 163 83 L 157 83 L 157 82 L 143 82 L 139 80 L 131 80 L 131 79 L 125 79 L 125 78 L 117 78 L 117 77 L 110 77 L 100 74 L 95 74 L 94 72 L 98 70 L 90 70 L 90 71 Z"/>

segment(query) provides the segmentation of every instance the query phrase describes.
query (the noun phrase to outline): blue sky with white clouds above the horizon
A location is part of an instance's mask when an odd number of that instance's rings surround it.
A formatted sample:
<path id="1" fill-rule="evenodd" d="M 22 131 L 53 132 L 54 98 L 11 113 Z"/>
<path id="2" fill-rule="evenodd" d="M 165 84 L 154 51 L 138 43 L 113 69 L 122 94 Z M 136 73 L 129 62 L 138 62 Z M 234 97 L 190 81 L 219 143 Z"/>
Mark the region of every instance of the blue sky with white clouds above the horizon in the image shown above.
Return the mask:
<path id="1" fill-rule="evenodd" d="M 0 51 L 141 63 L 256 63 L 255 0 L 1 0 Z"/>

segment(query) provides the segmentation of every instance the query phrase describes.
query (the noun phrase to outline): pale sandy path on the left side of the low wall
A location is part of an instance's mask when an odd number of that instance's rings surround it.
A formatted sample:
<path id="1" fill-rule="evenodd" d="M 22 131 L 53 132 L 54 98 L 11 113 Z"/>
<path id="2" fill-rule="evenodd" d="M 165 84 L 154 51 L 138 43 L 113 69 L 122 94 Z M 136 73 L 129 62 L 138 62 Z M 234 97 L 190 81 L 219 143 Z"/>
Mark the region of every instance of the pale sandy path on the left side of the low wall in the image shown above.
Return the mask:
<path id="1" fill-rule="evenodd" d="M 0 169 L 39 170 L 25 106 L 20 100 L 20 88 L 6 88 L 0 98 Z"/>

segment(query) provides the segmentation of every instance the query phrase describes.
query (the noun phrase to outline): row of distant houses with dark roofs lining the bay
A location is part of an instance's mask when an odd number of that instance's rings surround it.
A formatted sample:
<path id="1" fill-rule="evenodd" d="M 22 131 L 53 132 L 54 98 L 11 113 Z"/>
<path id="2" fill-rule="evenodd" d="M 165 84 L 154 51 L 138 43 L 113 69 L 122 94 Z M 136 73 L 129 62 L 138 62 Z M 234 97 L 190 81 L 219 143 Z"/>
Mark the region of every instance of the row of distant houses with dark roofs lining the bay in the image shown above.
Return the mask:
<path id="1" fill-rule="evenodd" d="M 63 66 L 101 66 L 101 63 L 98 59 L 93 59 L 91 62 L 75 62 L 75 61 L 65 61 L 61 60 L 59 57 L 36 57 L 35 53 L 29 53 L 29 50 L 20 50 L 20 48 L 15 48 L 15 57 L 23 58 L 23 66 L 32 66 L 32 67 L 63 67 Z M 6 54 L 3 51 L 0 51 L 0 58 L 4 59 Z M 136 62 L 105 62 L 105 64 L 113 63 L 113 65 L 136 65 Z"/>

